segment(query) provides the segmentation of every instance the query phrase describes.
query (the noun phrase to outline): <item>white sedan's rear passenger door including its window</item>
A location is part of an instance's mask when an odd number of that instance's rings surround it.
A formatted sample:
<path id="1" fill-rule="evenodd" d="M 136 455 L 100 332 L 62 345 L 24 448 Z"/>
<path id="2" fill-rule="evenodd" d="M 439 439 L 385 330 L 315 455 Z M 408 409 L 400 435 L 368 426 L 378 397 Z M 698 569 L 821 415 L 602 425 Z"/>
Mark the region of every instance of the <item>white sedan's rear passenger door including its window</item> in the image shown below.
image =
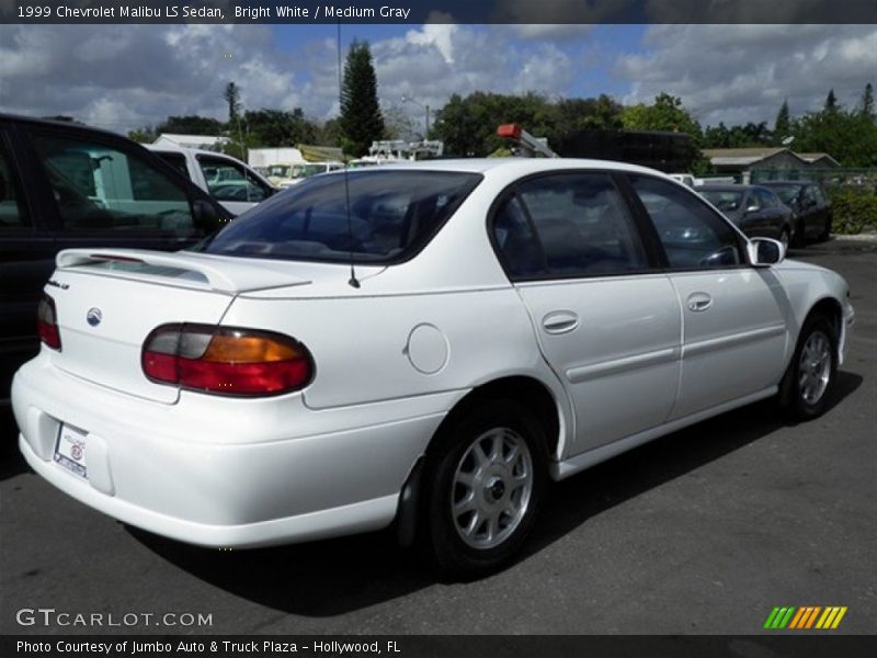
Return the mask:
<path id="1" fill-rule="evenodd" d="M 569 394 L 567 456 L 664 422 L 676 396 L 676 294 L 612 175 L 529 178 L 502 197 L 492 238 Z"/>

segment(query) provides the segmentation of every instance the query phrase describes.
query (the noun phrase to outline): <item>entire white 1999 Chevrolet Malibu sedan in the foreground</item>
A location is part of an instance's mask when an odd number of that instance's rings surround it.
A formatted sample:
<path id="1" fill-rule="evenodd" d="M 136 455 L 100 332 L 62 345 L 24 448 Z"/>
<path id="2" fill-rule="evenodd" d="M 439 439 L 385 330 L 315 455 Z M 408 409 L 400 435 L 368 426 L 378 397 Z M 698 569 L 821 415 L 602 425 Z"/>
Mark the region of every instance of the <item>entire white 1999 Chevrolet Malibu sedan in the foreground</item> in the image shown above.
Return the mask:
<path id="1" fill-rule="evenodd" d="M 847 285 L 595 160 L 330 173 L 196 248 L 61 252 L 15 375 L 44 478 L 183 542 L 392 522 L 505 564 L 562 479 L 770 396 L 821 413 Z"/>

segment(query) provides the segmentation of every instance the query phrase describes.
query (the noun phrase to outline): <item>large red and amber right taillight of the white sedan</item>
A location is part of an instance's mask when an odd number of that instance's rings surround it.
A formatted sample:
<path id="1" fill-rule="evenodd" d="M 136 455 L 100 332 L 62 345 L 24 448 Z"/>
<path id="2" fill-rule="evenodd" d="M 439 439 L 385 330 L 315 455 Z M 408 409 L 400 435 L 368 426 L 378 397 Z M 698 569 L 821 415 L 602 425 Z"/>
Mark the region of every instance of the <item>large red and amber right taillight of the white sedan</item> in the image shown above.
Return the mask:
<path id="1" fill-rule="evenodd" d="M 221 395 L 280 395 L 314 377 L 310 352 L 297 340 L 234 327 L 162 325 L 140 361 L 152 382 Z"/>

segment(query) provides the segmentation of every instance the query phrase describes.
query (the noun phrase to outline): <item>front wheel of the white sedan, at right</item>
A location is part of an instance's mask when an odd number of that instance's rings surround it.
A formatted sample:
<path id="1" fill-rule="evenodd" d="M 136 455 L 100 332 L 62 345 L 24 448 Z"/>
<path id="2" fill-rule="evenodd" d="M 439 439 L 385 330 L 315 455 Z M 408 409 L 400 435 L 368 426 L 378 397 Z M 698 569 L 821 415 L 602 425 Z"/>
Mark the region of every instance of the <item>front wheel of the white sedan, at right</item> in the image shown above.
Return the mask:
<path id="1" fill-rule="evenodd" d="M 793 420 L 810 420 L 825 411 L 838 373 L 838 336 L 823 315 L 801 328 L 791 363 L 779 384 L 779 404 Z"/>

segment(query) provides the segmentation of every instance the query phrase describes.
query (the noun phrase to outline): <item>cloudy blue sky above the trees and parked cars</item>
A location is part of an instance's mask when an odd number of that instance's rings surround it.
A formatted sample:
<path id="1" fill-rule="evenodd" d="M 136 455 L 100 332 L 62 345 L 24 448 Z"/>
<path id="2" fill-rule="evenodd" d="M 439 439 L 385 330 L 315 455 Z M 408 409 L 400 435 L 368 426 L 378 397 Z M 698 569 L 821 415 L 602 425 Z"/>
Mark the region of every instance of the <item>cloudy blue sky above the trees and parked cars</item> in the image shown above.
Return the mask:
<path id="1" fill-rule="evenodd" d="M 0 25 L 0 111 L 69 115 L 126 133 L 169 115 L 338 112 L 335 25 Z M 367 41 L 381 105 L 422 131 L 453 93 L 605 93 L 631 104 L 667 91 L 703 126 L 773 126 L 830 89 L 847 107 L 877 86 L 877 25 L 342 25 Z M 412 99 L 403 102 L 402 98 Z M 498 121 L 499 123 L 499 121 Z"/>

